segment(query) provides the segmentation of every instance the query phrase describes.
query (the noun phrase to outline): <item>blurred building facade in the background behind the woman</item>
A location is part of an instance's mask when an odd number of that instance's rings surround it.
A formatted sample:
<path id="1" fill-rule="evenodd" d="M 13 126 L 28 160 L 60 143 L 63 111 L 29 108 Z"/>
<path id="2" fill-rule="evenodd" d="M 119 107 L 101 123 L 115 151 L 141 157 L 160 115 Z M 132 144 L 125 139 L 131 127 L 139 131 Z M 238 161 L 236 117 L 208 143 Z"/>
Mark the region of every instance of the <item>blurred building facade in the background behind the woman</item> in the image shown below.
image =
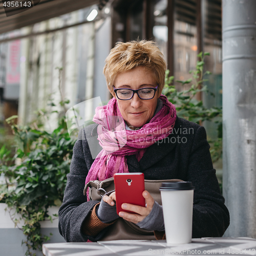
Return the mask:
<path id="1" fill-rule="evenodd" d="M 89 19 L 93 10 L 97 15 Z M 49 109 L 49 99 L 54 104 L 69 99 L 68 109 L 94 97 L 108 102 L 104 59 L 117 41 L 136 39 L 155 40 L 178 80 L 191 76 L 199 52 L 210 52 L 207 86 L 216 96 L 201 99 L 206 106 L 222 104 L 221 0 L 104 1 L 18 31 L 25 35 L 20 39 L 21 124 L 33 121 L 37 109 Z M 49 123 L 54 127 L 56 116 Z M 211 137 L 217 136 L 214 125 L 205 126 Z"/>

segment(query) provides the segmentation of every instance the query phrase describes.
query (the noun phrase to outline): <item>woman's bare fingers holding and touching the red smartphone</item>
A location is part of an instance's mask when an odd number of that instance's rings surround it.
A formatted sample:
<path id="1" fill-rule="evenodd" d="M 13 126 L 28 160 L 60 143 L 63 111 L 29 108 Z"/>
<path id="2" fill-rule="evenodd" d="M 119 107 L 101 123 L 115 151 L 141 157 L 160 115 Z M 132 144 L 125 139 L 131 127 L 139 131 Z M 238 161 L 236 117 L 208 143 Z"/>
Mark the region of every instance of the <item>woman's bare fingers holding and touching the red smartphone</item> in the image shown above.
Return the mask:
<path id="1" fill-rule="evenodd" d="M 112 194 L 114 194 L 114 193 L 112 193 Z M 119 216 L 122 217 L 124 220 L 133 222 L 135 224 L 137 224 L 138 222 L 140 222 L 143 219 L 145 219 L 145 217 L 150 214 L 150 212 L 151 212 L 151 210 L 153 208 L 153 205 L 155 203 L 155 200 L 150 195 L 150 193 L 148 191 L 146 191 L 146 190 L 143 191 L 142 196 L 146 199 L 146 207 L 142 207 L 142 206 L 134 205 L 134 204 L 123 203 L 121 205 L 122 209 L 131 210 L 131 211 L 134 211 L 136 213 L 135 214 L 130 214 L 129 212 L 120 211 L 119 212 Z M 112 196 L 112 198 L 114 198 L 114 200 L 116 200 L 116 194 L 114 195 L 114 197 Z M 113 202 L 112 199 L 111 199 L 112 202 L 109 199 L 106 199 L 106 200 L 108 200 L 110 203 Z"/>

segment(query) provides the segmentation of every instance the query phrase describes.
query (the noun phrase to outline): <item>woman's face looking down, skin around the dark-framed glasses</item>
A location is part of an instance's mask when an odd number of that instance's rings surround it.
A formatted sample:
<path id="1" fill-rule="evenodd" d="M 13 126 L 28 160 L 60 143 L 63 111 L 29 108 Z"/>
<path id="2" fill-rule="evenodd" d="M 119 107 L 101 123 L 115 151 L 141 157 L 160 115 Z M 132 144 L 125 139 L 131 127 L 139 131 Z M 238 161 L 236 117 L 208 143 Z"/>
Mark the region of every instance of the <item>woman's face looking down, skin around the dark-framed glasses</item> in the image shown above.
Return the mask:
<path id="1" fill-rule="evenodd" d="M 131 71 L 121 72 L 117 74 L 114 80 L 115 89 L 129 88 L 138 90 L 141 88 L 156 88 L 157 81 L 152 76 L 152 72 L 146 70 L 144 67 L 137 67 Z M 113 96 L 117 99 L 118 108 L 121 112 L 123 119 L 127 125 L 135 130 L 141 128 L 145 123 L 148 123 L 154 116 L 158 91 L 153 99 L 143 100 L 140 99 L 137 93 L 134 93 L 133 98 L 130 100 L 120 100 L 113 92 Z"/>

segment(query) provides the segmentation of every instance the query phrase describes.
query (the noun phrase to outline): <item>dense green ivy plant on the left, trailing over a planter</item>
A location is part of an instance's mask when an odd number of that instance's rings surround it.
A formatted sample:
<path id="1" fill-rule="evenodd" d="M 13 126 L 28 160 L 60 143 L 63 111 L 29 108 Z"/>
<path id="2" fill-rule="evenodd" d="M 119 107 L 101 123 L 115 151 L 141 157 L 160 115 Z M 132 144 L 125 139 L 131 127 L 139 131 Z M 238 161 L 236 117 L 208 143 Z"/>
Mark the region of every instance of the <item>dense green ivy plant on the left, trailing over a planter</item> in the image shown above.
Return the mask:
<path id="1" fill-rule="evenodd" d="M 67 103 L 69 101 L 61 95 L 62 113 Z M 52 100 L 49 105 L 55 106 Z M 59 115 L 57 128 L 49 132 L 43 123 L 48 122 L 53 113 Z M 27 246 L 25 255 L 35 256 L 34 250 L 41 250 L 42 243 L 50 239 L 41 234 L 40 221 L 52 221 L 57 217 L 50 216 L 48 209 L 62 202 L 75 136 L 69 136 L 66 119 L 57 110 L 39 110 L 36 120 L 25 126 L 15 124 L 16 118 L 6 119 L 15 137 L 16 154 L 10 157 L 11 151 L 5 145 L 0 148 L 0 174 L 5 177 L 5 183 L 0 185 L 0 202 L 8 205 L 15 226 L 26 235 L 23 241 Z M 11 214 L 13 209 L 19 219 Z M 24 221 L 22 227 L 19 226 L 21 219 Z"/>

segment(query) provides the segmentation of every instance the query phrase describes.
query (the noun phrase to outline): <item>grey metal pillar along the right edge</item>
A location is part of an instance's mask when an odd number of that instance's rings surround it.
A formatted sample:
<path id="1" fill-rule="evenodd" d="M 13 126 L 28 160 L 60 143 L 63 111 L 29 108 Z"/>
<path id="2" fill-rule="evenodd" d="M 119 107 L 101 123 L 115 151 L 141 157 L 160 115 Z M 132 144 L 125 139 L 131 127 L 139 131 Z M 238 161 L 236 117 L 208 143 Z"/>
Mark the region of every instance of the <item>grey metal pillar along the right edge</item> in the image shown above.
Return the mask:
<path id="1" fill-rule="evenodd" d="M 256 1 L 222 7 L 225 236 L 256 238 Z"/>

